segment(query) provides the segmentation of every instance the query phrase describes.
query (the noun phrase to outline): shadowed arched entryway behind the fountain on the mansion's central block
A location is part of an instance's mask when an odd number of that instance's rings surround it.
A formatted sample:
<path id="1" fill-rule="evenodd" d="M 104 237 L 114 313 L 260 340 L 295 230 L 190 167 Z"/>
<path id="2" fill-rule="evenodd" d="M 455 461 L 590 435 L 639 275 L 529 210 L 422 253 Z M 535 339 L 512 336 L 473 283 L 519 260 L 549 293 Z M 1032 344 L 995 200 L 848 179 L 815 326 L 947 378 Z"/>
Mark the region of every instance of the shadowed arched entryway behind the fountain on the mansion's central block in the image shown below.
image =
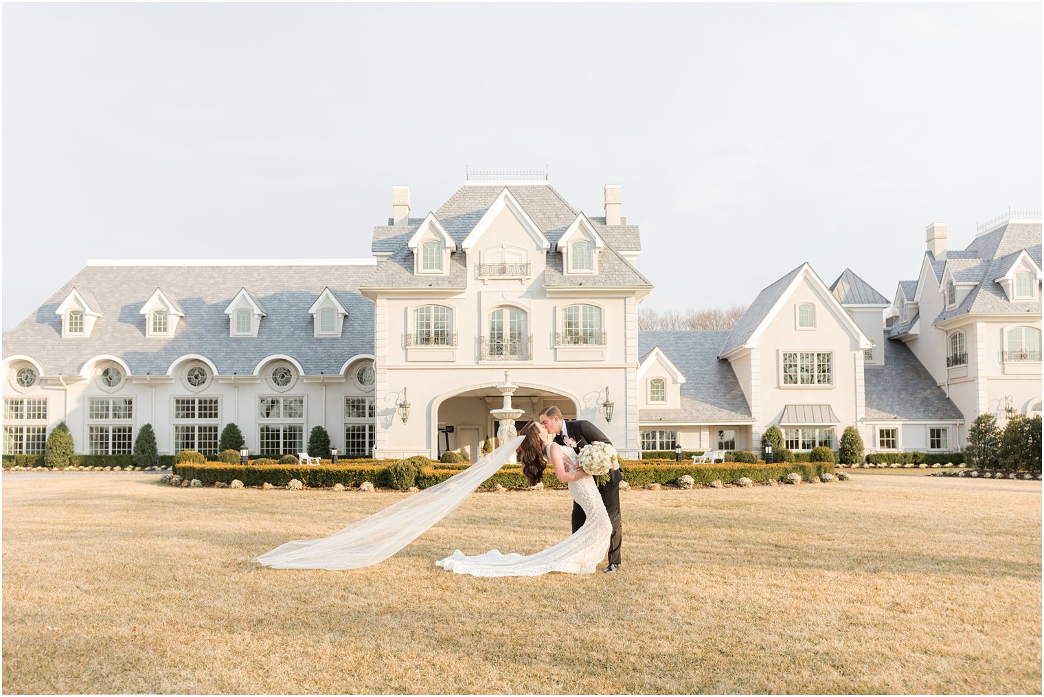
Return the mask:
<path id="1" fill-rule="evenodd" d="M 524 385 L 515 380 L 520 387 L 512 398 L 512 405 L 522 409 L 523 414 L 515 422 L 515 427 L 521 429 L 529 420 L 536 418 L 544 407 L 554 405 L 562 410 L 566 418 L 576 418 L 576 402 L 572 396 L 553 390 Z M 465 390 L 444 398 L 434 410 L 435 436 L 432 451 L 441 455 L 447 450 L 462 451 L 474 462 L 481 456 L 482 443 L 487 438 L 497 444 L 497 424 L 490 415 L 491 409 L 498 409 L 503 404 L 503 396 L 494 387 L 478 387 Z"/>

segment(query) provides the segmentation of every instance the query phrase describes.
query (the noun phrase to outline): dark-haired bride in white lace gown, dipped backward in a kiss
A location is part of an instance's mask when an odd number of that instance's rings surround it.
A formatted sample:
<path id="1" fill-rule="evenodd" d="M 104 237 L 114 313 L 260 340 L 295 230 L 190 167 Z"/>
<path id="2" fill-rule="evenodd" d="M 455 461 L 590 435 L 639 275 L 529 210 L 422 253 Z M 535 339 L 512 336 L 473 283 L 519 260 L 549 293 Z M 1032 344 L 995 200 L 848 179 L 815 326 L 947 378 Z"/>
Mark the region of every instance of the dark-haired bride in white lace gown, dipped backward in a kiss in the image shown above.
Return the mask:
<path id="1" fill-rule="evenodd" d="M 539 422 L 530 422 L 519 434 L 522 474 L 530 486 L 541 481 L 550 463 L 560 481 L 569 484 L 569 492 L 587 514 L 587 521 L 573 534 L 553 547 L 523 556 L 501 554 L 491 550 L 485 554 L 467 556 L 456 550 L 435 563 L 447 571 L 472 576 L 540 576 L 550 572 L 593 574 L 606 556 L 613 526 L 606 512 L 598 486 L 591 475 L 576 465 L 576 452 L 552 442 L 552 436 Z"/>

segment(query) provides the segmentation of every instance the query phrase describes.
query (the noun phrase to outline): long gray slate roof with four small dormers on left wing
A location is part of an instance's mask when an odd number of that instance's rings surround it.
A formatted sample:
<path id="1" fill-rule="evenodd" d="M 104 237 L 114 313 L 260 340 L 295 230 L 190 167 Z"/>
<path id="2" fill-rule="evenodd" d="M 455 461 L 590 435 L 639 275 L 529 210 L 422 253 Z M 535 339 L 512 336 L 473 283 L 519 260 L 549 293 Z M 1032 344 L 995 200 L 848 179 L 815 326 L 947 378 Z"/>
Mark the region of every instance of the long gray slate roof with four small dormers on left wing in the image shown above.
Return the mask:
<path id="1" fill-rule="evenodd" d="M 3 336 L 3 355 L 25 354 L 39 360 L 46 375 L 79 372 L 91 358 L 113 354 L 134 375 L 166 375 L 179 357 L 206 356 L 220 375 L 253 374 L 261 359 L 286 354 L 305 372 L 336 374 L 346 360 L 374 352 L 374 306 L 358 292 L 372 265 L 330 266 L 88 266 L 39 310 Z M 54 310 L 69 291 L 93 292 L 108 309 L 86 339 L 62 339 L 62 318 Z M 146 338 L 140 314 L 157 286 L 176 293 L 185 317 L 172 338 Z M 348 310 L 339 338 L 316 339 L 315 298 L 329 286 Z M 257 338 L 229 337 L 224 309 L 246 287 L 264 303 Z"/>

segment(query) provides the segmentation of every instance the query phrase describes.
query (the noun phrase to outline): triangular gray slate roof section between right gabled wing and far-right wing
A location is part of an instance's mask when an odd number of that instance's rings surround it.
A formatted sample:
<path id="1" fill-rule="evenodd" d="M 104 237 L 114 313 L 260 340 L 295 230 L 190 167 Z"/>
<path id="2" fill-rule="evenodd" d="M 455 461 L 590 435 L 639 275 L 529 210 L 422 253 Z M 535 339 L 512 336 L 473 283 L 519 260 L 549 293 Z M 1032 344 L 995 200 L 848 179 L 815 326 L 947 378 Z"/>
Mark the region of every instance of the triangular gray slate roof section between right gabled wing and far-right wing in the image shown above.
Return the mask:
<path id="1" fill-rule="evenodd" d="M 964 418 L 931 374 L 902 341 L 884 342 L 884 365 L 863 367 L 867 418 Z"/>

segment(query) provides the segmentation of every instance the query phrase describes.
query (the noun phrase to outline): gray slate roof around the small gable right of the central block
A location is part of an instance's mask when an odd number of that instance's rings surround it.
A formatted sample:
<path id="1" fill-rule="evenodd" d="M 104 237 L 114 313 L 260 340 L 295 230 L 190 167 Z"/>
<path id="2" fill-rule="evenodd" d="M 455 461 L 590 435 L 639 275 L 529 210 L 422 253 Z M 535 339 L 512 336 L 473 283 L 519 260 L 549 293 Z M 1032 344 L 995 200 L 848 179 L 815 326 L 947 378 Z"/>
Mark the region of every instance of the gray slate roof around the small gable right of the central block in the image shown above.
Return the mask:
<path id="1" fill-rule="evenodd" d="M 641 409 L 638 419 L 642 424 L 750 420 L 751 408 L 732 365 L 717 357 L 728 335 L 727 330 L 639 332 L 638 354 L 645 356 L 660 346 L 685 376 L 685 383 L 681 409 Z"/>

